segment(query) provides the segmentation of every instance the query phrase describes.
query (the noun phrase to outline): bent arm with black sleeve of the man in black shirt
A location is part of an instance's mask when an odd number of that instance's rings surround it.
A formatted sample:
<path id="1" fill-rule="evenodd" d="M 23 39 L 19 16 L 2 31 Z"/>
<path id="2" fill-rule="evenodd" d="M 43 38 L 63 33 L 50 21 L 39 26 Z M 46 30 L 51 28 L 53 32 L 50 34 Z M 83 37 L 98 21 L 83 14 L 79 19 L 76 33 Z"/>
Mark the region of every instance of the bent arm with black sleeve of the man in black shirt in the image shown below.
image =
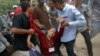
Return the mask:
<path id="1" fill-rule="evenodd" d="M 32 29 L 22 28 L 22 17 L 21 16 L 16 16 L 13 18 L 11 31 L 14 34 L 33 34 L 34 33 L 34 30 Z"/>

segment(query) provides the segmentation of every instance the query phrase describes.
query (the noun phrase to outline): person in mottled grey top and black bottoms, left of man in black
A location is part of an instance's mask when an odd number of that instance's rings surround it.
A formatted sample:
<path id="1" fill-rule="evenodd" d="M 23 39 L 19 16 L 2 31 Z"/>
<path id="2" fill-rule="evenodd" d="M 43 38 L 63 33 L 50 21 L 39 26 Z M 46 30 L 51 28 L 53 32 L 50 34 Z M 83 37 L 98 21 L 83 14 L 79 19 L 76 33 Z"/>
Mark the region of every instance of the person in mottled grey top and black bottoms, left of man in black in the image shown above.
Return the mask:
<path id="1" fill-rule="evenodd" d="M 10 19 L 9 16 L 4 14 L 2 16 L 2 18 L 0 19 L 1 21 L 1 33 L 3 34 L 3 36 L 7 39 L 8 42 L 10 42 L 10 44 L 13 44 L 13 37 L 11 35 L 11 25 L 10 25 Z"/>

